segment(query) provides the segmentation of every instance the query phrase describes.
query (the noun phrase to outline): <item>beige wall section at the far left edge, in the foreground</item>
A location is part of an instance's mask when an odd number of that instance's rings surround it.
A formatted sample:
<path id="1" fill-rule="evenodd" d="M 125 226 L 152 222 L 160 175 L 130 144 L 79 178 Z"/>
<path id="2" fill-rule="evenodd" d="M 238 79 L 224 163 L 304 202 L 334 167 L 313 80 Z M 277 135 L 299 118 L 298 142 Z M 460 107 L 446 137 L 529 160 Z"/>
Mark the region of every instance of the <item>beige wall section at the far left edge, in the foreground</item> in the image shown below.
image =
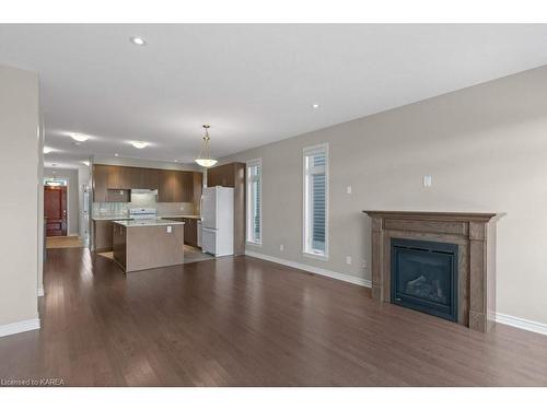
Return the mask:
<path id="1" fill-rule="evenodd" d="M 0 326 L 38 317 L 38 77 L 0 66 Z"/>

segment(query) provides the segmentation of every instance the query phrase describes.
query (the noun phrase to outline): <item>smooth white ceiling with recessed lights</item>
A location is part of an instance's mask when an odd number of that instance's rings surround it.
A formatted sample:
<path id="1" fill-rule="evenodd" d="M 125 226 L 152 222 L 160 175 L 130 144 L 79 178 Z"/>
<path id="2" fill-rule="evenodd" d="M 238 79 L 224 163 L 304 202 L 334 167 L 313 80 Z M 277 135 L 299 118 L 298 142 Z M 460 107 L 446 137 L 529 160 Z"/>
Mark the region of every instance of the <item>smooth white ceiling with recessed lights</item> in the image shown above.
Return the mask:
<path id="1" fill-rule="evenodd" d="M 546 44 L 547 25 L 0 25 L 0 63 L 39 72 L 46 164 L 191 162 L 205 122 L 220 157 L 547 65 Z"/>

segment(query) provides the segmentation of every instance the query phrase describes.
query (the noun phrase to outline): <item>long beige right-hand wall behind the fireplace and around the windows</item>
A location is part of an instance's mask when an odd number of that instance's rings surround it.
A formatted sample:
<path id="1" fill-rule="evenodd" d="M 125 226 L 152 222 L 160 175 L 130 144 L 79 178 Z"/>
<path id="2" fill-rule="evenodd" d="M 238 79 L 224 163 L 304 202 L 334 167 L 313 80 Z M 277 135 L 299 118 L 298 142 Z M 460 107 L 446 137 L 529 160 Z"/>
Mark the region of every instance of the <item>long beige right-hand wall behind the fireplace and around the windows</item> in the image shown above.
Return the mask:
<path id="1" fill-rule="evenodd" d="M 328 104 L 321 109 L 328 110 Z M 301 254 L 302 149 L 322 142 L 330 149 L 328 261 Z M 507 212 L 498 231 L 497 309 L 547 324 L 546 67 L 222 162 L 257 157 L 263 160 L 263 246 L 247 245 L 248 250 L 370 279 L 370 220 L 362 210 Z M 432 175 L 430 188 L 422 186 L 424 175 Z"/>

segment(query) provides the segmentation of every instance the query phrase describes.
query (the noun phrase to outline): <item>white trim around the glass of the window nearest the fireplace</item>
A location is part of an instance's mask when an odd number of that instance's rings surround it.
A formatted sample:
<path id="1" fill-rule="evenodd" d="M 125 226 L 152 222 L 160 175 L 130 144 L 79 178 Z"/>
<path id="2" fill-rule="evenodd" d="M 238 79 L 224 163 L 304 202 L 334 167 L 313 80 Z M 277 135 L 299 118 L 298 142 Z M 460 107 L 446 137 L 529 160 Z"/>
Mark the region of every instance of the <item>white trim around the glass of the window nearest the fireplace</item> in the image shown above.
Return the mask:
<path id="1" fill-rule="evenodd" d="M 307 189 L 306 189 L 306 156 L 311 155 L 315 152 L 325 152 L 326 161 L 325 161 L 325 253 L 324 254 L 314 254 L 312 251 L 307 250 L 307 243 L 306 243 L 306 229 L 307 229 L 307 219 L 306 219 L 306 196 L 307 196 Z M 329 143 L 324 142 L 321 144 L 312 145 L 312 147 L 304 147 L 302 150 L 302 255 L 305 255 L 311 258 L 315 259 L 321 259 L 321 260 L 328 260 L 328 236 L 329 236 L 329 198 L 330 198 L 330 174 L 329 174 L 329 167 L 330 167 L 330 150 L 329 150 Z"/>

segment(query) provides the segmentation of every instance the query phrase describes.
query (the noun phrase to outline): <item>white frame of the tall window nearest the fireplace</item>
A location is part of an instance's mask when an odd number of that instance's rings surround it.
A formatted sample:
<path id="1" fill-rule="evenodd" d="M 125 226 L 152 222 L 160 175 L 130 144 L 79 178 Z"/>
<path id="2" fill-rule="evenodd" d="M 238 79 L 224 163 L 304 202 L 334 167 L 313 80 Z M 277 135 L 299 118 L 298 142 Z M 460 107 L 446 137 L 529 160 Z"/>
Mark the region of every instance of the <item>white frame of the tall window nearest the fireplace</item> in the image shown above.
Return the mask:
<path id="1" fill-rule="evenodd" d="M 310 203 L 309 203 L 309 192 L 310 187 L 307 184 L 307 169 L 306 169 L 306 156 L 312 155 L 316 152 L 325 153 L 325 251 L 318 253 L 313 250 L 311 247 L 312 233 L 310 230 Z M 306 147 L 302 151 L 302 255 L 305 257 L 328 260 L 328 236 L 329 236 L 329 166 L 330 166 L 330 155 L 328 142 L 321 143 L 317 145 Z"/>

